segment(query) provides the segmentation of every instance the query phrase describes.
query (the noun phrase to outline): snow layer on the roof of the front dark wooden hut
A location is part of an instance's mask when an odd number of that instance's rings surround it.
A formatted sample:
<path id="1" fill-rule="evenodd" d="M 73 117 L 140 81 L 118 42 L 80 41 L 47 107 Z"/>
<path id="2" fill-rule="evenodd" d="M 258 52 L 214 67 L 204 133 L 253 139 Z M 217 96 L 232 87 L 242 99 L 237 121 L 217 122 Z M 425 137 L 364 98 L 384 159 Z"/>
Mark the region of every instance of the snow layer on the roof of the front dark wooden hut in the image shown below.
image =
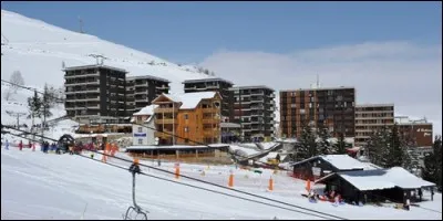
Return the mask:
<path id="1" fill-rule="evenodd" d="M 421 187 L 435 186 L 410 173 L 401 167 L 377 170 L 358 170 L 338 172 L 340 177 L 350 182 L 359 190 L 391 189 L 399 187 L 402 189 L 418 189 Z"/>

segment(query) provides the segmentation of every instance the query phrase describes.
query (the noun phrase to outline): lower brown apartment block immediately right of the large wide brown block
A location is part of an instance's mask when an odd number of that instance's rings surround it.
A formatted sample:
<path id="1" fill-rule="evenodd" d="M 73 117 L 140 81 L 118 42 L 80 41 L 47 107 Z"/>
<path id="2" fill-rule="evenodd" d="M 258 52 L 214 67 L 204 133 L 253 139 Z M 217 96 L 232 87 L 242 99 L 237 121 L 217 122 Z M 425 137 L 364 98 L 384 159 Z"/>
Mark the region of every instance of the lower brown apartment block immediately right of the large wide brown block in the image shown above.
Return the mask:
<path id="1" fill-rule="evenodd" d="M 364 146 L 371 135 L 394 125 L 393 104 L 365 104 L 356 106 L 356 146 Z"/>

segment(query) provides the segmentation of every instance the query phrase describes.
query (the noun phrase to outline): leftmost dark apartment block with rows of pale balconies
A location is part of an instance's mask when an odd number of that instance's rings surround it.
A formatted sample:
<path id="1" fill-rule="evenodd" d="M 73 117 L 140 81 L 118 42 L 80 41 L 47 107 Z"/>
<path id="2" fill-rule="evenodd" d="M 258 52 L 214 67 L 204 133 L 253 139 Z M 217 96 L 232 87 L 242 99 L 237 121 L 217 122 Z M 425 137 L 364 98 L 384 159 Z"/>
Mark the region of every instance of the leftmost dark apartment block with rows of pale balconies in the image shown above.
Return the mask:
<path id="1" fill-rule="evenodd" d="M 78 120 L 122 122 L 126 117 L 126 71 L 106 65 L 63 70 L 66 115 Z"/>

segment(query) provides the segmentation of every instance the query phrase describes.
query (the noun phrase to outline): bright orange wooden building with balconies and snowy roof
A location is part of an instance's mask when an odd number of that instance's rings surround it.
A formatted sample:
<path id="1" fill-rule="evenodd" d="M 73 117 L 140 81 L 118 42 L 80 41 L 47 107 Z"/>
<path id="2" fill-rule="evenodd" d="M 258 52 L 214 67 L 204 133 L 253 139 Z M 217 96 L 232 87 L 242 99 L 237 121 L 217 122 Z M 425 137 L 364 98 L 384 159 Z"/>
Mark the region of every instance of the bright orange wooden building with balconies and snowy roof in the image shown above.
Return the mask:
<path id="1" fill-rule="evenodd" d="M 202 145 L 220 141 L 220 103 L 218 92 L 162 94 L 155 98 L 154 136 L 159 145 Z M 173 136 L 173 135 L 176 135 Z"/>

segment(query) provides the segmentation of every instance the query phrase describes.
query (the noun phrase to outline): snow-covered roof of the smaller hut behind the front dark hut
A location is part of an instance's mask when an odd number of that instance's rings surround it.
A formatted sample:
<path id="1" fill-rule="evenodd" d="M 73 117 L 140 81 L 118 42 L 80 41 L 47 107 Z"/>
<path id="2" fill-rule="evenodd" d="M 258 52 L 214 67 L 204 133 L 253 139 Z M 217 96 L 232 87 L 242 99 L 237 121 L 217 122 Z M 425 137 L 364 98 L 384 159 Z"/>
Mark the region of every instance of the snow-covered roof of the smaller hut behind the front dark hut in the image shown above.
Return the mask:
<path id="1" fill-rule="evenodd" d="M 320 155 L 320 156 L 316 156 L 316 157 L 311 157 L 311 158 L 298 161 L 296 164 L 292 164 L 292 166 L 303 164 L 306 161 L 310 161 L 310 160 L 313 160 L 317 158 L 323 159 L 324 161 L 329 162 L 331 166 L 336 167 L 338 170 L 377 169 L 377 168 L 372 167 L 370 164 L 359 161 L 358 159 L 354 159 L 348 155 Z"/>

